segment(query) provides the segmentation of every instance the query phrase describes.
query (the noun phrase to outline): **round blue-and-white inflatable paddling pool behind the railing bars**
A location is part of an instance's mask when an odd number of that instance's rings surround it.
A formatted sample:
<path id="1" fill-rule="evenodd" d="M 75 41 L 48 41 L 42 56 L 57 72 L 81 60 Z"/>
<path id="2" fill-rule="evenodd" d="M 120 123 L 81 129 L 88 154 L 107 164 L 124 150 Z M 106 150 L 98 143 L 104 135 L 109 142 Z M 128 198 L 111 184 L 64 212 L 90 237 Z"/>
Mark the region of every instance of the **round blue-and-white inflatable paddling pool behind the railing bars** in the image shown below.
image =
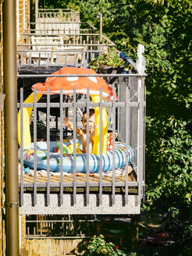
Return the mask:
<path id="1" fill-rule="evenodd" d="M 76 140 L 76 143 L 80 144 L 80 140 Z M 66 147 L 70 142 L 63 143 L 63 157 L 62 157 L 62 170 L 63 172 L 73 172 L 73 154 L 67 151 Z M 50 141 L 50 160 L 49 169 L 52 172 L 60 171 L 61 155 L 55 152 L 58 148 L 58 141 Z M 65 150 L 66 149 L 66 150 Z M 20 155 L 20 152 L 19 152 Z M 126 144 L 116 142 L 115 150 L 115 169 L 121 168 L 126 165 L 126 159 L 128 162 L 133 159 L 133 149 L 128 148 L 128 155 L 126 156 Z M 89 172 L 99 171 L 100 156 L 89 154 Z M 30 148 L 23 149 L 23 165 L 34 169 L 34 143 L 30 145 Z M 45 141 L 37 142 L 37 170 L 47 169 L 47 143 Z M 87 154 L 76 154 L 76 172 L 86 172 L 87 170 Z M 112 171 L 112 150 L 107 151 L 105 155 L 102 155 L 102 171 Z"/>

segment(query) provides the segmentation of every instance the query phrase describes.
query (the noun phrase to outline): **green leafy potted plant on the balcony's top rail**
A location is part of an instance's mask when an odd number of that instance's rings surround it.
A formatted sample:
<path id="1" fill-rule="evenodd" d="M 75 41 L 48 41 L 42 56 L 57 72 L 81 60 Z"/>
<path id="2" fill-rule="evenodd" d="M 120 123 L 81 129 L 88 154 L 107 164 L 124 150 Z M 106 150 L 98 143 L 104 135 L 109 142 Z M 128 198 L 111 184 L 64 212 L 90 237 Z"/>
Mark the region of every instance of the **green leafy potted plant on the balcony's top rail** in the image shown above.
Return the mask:
<path id="1" fill-rule="evenodd" d="M 118 68 L 120 66 L 127 68 L 129 66 L 126 62 L 123 62 L 123 59 L 119 58 L 119 53 L 117 50 L 112 48 L 108 48 L 107 52 L 103 52 L 97 58 L 91 59 L 89 65 L 92 67 L 92 69 L 99 73 L 104 66 L 110 66 L 114 68 Z"/>

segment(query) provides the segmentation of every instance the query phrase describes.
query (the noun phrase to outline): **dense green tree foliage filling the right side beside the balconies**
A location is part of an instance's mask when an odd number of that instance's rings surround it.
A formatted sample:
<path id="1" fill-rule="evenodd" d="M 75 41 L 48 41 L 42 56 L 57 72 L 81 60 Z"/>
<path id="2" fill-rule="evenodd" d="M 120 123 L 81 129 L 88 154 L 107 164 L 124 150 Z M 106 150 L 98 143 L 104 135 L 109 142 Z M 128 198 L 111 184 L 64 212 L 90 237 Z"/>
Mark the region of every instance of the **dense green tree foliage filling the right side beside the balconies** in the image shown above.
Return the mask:
<path id="1" fill-rule="evenodd" d="M 104 34 L 134 60 L 137 44 L 144 44 L 148 73 L 145 208 L 154 211 L 152 205 L 162 206 L 163 199 L 163 211 L 172 216 L 182 208 L 190 210 L 191 0 L 47 0 L 46 6 L 76 9 L 81 21 L 98 28 L 102 13 Z"/>

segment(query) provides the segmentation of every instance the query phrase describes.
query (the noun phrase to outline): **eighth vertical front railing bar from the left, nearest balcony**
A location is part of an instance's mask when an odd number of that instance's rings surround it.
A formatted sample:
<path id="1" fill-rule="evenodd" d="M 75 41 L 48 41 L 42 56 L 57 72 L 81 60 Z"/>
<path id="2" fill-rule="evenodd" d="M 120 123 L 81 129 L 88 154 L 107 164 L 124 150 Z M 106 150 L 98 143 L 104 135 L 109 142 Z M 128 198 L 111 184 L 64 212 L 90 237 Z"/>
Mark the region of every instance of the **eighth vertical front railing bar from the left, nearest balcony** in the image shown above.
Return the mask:
<path id="1" fill-rule="evenodd" d="M 113 100 L 112 100 L 112 204 L 115 204 L 115 194 L 116 194 L 116 87 L 113 84 Z"/>

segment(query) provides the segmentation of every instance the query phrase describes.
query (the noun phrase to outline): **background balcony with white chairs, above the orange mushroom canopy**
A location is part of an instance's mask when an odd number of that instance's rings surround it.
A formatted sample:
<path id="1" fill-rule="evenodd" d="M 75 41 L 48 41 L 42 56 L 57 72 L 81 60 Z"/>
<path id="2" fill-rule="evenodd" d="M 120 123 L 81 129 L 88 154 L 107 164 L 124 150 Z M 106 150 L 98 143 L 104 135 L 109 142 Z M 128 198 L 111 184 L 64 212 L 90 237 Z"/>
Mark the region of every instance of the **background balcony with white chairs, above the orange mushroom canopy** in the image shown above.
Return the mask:
<path id="1" fill-rule="evenodd" d="M 115 44 L 80 13 L 68 9 L 39 9 L 35 23 L 26 23 L 18 41 L 18 66 L 86 67 L 104 48 Z M 77 62 L 76 62 L 77 61 Z"/>

